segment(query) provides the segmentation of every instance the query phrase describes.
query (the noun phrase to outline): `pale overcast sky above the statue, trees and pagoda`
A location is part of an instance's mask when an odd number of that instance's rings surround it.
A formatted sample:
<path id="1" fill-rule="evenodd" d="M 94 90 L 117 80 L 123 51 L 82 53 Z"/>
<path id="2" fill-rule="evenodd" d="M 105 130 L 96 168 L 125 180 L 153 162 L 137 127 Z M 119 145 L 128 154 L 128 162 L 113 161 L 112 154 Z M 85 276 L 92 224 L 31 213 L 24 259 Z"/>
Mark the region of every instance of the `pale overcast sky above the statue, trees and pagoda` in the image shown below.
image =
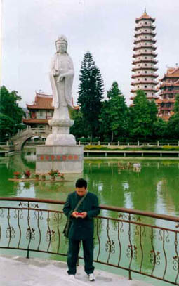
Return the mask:
<path id="1" fill-rule="evenodd" d="M 32 104 L 35 91 L 51 94 L 48 77 L 55 40 L 68 39 L 74 62 L 73 97 L 77 101 L 79 70 L 90 51 L 104 79 L 130 103 L 135 18 L 144 12 L 156 18 L 159 77 L 179 65 L 179 0 L 1 0 L 1 85 Z"/>

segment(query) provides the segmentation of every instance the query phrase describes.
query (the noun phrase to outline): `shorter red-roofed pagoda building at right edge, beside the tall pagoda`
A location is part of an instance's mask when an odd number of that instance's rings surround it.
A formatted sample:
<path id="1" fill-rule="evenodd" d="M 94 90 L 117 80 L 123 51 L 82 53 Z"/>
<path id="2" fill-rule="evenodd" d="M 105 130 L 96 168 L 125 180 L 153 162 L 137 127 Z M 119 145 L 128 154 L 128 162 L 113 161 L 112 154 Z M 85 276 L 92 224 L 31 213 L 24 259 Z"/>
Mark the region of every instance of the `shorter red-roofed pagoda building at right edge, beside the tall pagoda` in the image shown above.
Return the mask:
<path id="1" fill-rule="evenodd" d="M 175 96 L 179 94 L 179 67 L 168 67 L 164 77 L 160 79 L 158 115 L 164 120 L 168 120 L 173 115 Z"/>

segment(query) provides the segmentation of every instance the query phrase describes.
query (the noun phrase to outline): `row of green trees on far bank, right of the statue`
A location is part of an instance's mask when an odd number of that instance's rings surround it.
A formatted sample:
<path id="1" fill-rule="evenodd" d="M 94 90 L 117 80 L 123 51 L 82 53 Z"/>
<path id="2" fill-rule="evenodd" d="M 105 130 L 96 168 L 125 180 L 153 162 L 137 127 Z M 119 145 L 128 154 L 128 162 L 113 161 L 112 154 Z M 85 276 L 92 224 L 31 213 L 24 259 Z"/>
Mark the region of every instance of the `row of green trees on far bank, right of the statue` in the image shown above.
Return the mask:
<path id="1" fill-rule="evenodd" d="M 142 90 L 128 107 L 117 82 L 103 100 L 104 84 L 91 53 L 87 52 L 79 74 L 79 110 L 72 112 L 71 133 L 84 141 L 154 141 L 179 139 L 179 95 L 168 122 L 157 117 L 157 105 Z"/>

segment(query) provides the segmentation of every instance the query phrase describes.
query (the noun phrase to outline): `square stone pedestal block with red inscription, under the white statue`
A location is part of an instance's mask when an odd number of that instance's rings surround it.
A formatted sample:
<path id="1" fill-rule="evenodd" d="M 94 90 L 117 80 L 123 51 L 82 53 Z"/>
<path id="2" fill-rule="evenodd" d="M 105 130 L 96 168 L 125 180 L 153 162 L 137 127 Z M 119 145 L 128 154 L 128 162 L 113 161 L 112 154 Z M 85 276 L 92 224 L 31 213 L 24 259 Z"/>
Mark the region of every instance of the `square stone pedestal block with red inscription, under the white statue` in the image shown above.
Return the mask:
<path id="1" fill-rule="evenodd" d="M 84 169 L 83 145 L 39 145 L 36 154 L 36 172 L 40 174 L 51 169 L 64 174 L 81 174 Z"/>

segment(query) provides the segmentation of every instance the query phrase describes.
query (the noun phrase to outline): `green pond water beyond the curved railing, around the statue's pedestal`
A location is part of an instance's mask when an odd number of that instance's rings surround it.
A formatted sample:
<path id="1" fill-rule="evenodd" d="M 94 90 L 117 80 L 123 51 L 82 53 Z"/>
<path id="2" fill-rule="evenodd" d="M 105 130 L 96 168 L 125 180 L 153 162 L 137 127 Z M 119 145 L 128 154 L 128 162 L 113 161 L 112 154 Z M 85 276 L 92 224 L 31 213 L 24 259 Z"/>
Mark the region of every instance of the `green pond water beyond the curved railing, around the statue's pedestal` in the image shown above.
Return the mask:
<path id="1" fill-rule="evenodd" d="M 133 164 L 136 163 L 140 164 L 138 170 L 133 169 Z M 74 183 L 77 178 L 84 176 L 88 181 L 88 190 L 98 195 L 100 204 L 140 209 L 142 211 L 169 214 L 172 216 L 178 216 L 179 214 L 179 160 L 138 160 L 135 158 L 128 158 L 126 160 L 91 160 L 88 158 L 84 160 L 84 174 L 80 176 L 65 176 L 69 180 L 67 183 L 14 183 L 8 181 L 8 178 L 13 178 L 14 171 L 24 171 L 27 169 L 32 171 L 32 173 L 35 171 L 34 150 L 27 150 L 21 155 L 0 158 L 1 197 L 36 197 L 65 200 L 67 194 L 74 190 Z M 3 204 L 3 202 L 0 202 L 0 204 Z M 112 216 L 111 212 L 108 214 Z M 154 221 L 154 219 L 150 219 L 147 222 L 157 224 L 157 221 Z M 106 239 L 105 235 L 104 240 Z M 135 238 L 133 238 L 133 241 L 135 241 Z M 144 242 L 147 249 L 147 238 L 144 238 Z M 174 238 L 171 238 L 171 242 L 174 243 Z M 98 241 L 95 241 L 95 244 L 97 245 Z M 64 247 L 67 247 L 67 245 Z M 168 251 L 170 249 L 171 246 L 168 245 Z M 106 255 L 105 249 L 102 251 Z M 18 251 L 0 249 L 0 254 L 13 255 L 18 253 Z M 59 259 L 50 254 L 33 253 L 31 256 Z M 136 261 L 137 264 L 140 264 L 138 259 Z M 144 266 L 147 268 L 145 259 Z M 119 275 L 128 275 L 126 271 L 122 271 L 121 269 L 110 268 L 101 264 L 96 264 L 96 267 L 118 273 Z M 168 275 L 168 273 L 166 274 Z M 176 275 L 175 272 L 172 272 L 169 275 L 174 274 Z M 153 280 L 152 278 L 135 273 L 132 273 L 132 276 L 133 279 L 150 281 L 153 285 L 170 285 L 166 282 Z"/>

